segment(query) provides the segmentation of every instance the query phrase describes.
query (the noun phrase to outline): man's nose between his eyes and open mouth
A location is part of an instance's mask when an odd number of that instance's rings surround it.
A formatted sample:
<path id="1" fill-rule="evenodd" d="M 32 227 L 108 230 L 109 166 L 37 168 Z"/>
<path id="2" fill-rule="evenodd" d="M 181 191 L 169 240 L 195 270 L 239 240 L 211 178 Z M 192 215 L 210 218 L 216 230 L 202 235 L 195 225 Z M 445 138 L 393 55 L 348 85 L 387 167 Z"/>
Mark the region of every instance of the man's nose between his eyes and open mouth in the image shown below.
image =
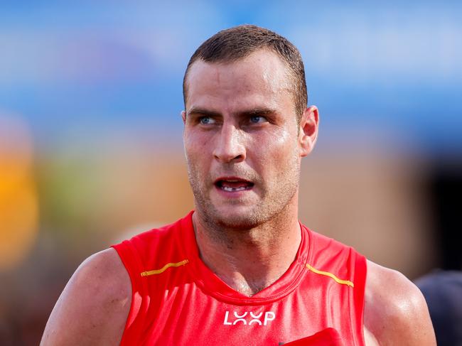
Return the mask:
<path id="1" fill-rule="evenodd" d="M 242 133 L 234 124 L 224 124 L 215 142 L 213 156 L 222 163 L 245 160 L 245 145 Z"/>

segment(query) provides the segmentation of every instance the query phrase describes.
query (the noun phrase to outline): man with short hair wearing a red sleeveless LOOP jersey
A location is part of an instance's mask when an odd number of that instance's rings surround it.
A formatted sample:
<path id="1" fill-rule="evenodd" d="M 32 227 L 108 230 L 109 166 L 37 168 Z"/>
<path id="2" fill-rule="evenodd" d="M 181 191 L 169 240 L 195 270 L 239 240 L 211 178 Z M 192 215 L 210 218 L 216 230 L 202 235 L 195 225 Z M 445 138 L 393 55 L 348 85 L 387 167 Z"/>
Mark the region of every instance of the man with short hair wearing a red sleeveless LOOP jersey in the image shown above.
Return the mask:
<path id="1" fill-rule="evenodd" d="M 435 345 L 410 281 L 298 222 L 319 118 L 294 45 L 220 31 L 183 92 L 195 211 L 87 259 L 43 345 Z"/>

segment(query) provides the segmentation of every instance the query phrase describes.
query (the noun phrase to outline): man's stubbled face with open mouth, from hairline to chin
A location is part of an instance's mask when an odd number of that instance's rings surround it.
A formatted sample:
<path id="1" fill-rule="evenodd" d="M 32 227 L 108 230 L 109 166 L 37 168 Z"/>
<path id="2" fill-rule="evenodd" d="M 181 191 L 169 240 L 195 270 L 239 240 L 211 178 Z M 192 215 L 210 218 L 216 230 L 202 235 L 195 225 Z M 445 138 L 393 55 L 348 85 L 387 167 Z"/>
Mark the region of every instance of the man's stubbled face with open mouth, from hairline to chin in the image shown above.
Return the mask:
<path id="1" fill-rule="evenodd" d="M 248 229 L 297 203 L 303 131 L 280 58 L 259 50 L 235 63 L 198 60 L 187 83 L 184 146 L 200 215 Z"/>

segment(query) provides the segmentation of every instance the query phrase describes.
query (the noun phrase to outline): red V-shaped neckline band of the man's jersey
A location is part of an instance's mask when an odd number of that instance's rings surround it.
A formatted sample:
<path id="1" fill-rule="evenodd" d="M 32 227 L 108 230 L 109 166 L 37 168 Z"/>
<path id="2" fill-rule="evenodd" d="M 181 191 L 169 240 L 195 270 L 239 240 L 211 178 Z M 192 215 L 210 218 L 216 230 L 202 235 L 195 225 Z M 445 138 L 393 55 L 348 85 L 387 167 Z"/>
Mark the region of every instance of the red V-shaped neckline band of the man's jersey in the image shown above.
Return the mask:
<path id="1" fill-rule="evenodd" d="M 190 262 L 188 269 L 191 271 L 195 283 L 205 293 L 220 301 L 236 305 L 257 305 L 281 299 L 299 286 L 303 275 L 306 274 L 306 264 L 309 263 L 311 249 L 310 231 L 300 222 L 301 242 L 289 269 L 270 286 L 249 297 L 228 286 L 200 259 L 193 227 L 193 213 L 194 210 L 181 220 L 181 232 L 179 233 L 181 239 L 179 241 Z"/>

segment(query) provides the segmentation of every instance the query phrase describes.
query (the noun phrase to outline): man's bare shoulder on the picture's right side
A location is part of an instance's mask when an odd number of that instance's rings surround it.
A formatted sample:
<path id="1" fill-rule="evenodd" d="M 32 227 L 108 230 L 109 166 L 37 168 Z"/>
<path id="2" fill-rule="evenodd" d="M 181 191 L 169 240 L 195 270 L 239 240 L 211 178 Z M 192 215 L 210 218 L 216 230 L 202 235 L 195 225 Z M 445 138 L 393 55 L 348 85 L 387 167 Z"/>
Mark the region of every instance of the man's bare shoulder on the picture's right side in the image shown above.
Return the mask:
<path id="1" fill-rule="evenodd" d="M 399 271 L 372 261 L 367 261 L 364 324 L 365 335 L 378 345 L 436 345 L 419 288 Z"/>

